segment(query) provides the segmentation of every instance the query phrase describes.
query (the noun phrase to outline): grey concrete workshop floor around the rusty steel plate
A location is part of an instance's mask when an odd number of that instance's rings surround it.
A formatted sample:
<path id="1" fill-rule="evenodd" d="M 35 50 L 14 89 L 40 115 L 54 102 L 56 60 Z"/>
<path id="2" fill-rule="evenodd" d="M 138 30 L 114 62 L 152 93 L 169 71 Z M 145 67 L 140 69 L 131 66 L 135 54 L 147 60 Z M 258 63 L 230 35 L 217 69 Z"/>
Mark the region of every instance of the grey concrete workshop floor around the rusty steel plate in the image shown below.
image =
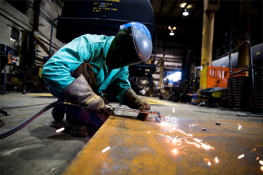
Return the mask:
<path id="1" fill-rule="evenodd" d="M 21 94 L 10 92 L 1 95 L 0 106 L 21 106 L 25 104 L 51 103 L 56 101 L 49 94 Z M 238 111 L 222 111 L 220 108 L 198 107 L 189 104 L 174 103 L 158 98 L 147 97 L 151 109 L 161 111 L 164 116 L 174 116 L 186 119 L 205 120 L 236 120 L 262 123 L 260 117 L 237 116 Z M 117 103 L 110 103 L 120 106 Z M 1 114 L 5 125 L 0 132 L 5 132 L 20 124 L 25 119 L 39 111 L 45 105 L 6 109 L 11 116 Z M 125 106 L 124 106 L 125 107 Z M 175 112 L 173 113 L 173 108 Z M 136 115 L 136 113 L 116 111 L 117 115 Z M 51 109 L 40 115 L 26 127 L 1 140 L 0 174 L 61 174 L 79 151 L 94 135 L 96 129 L 89 129 L 86 138 L 72 137 L 69 134 L 70 125 L 65 122 L 55 122 Z M 64 132 L 56 133 L 56 129 L 65 127 Z"/>

